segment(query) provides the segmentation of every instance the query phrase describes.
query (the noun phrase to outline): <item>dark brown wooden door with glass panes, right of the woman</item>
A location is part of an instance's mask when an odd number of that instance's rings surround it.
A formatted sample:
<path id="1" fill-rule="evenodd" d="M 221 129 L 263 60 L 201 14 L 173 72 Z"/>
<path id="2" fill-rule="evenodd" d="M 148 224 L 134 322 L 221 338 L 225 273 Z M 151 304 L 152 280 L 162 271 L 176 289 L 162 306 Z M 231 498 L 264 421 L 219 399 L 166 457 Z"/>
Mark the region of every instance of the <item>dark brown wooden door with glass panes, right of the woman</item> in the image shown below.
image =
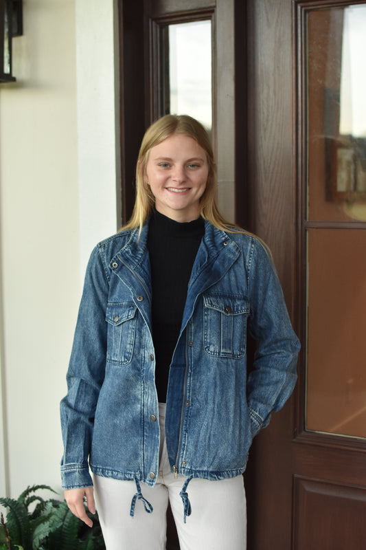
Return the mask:
<path id="1" fill-rule="evenodd" d="M 343 135 L 339 98 L 349 4 L 247 1 L 249 227 L 302 344 L 295 393 L 251 450 L 249 550 L 366 547 L 365 134 Z"/>

